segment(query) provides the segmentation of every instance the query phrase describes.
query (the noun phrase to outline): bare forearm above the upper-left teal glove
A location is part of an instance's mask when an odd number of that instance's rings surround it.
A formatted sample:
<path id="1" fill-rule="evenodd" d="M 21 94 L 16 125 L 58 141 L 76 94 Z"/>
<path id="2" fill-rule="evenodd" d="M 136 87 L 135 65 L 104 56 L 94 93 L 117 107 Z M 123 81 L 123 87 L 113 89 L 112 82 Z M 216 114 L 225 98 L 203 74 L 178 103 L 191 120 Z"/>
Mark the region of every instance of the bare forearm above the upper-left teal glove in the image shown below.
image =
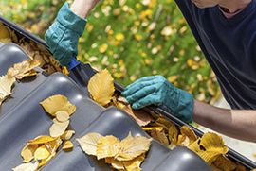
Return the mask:
<path id="1" fill-rule="evenodd" d="M 75 0 L 70 9 L 82 18 L 86 18 L 100 0 Z"/>

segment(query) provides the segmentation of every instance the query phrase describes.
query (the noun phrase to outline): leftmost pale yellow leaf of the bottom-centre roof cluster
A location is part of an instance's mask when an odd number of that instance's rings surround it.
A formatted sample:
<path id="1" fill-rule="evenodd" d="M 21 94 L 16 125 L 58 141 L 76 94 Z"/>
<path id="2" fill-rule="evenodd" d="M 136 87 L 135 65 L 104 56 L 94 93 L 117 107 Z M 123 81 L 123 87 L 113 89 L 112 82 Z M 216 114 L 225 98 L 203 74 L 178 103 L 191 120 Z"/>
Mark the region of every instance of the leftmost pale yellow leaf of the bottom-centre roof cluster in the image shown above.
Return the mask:
<path id="1" fill-rule="evenodd" d="M 97 144 L 102 135 L 99 133 L 88 133 L 82 138 L 77 139 L 82 150 L 88 155 L 97 155 Z"/>

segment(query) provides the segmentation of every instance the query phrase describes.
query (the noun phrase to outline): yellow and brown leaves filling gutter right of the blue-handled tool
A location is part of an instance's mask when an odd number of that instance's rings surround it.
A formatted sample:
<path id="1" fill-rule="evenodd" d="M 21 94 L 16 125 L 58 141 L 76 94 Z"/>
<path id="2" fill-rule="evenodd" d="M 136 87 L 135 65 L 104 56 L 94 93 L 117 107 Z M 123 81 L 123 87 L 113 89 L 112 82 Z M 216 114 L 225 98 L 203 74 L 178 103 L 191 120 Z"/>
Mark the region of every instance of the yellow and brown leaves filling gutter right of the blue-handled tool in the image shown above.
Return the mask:
<path id="1" fill-rule="evenodd" d="M 114 105 L 127 111 L 143 130 L 170 149 L 174 149 L 176 146 L 186 146 L 214 169 L 246 170 L 244 166 L 231 162 L 225 156 L 229 148 L 224 145 L 222 137 L 216 133 L 206 133 L 199 138 L 188 126 L 177 128 L 172 121 L 163 116 L 145 111 L 133 111 L 125 99 L 114 95 L 114 79 L 106 69 L 91 77 L 88 82 L 88 91 L 92 99 L 102 106 Z"/>

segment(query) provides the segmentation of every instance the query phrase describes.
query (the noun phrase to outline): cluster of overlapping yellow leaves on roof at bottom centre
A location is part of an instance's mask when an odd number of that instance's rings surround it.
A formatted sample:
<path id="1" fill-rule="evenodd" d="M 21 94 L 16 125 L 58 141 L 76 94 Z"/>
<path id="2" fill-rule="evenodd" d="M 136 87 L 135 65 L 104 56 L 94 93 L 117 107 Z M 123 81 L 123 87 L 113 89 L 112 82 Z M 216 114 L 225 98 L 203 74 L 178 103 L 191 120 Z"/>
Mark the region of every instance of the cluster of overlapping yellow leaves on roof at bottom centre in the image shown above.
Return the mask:
<path id="1" fill-rule="evenodd" d="M 86 154 L 96 156 L 98 160 L 105 159 L 117 170 L 127 171 L 141 170 L 140 164 L 151 145 L 151 139 L 133 137 L 131 133 L 121 141 L 115 136 L 99 133 L 88 133 L 77 141 Z"/>

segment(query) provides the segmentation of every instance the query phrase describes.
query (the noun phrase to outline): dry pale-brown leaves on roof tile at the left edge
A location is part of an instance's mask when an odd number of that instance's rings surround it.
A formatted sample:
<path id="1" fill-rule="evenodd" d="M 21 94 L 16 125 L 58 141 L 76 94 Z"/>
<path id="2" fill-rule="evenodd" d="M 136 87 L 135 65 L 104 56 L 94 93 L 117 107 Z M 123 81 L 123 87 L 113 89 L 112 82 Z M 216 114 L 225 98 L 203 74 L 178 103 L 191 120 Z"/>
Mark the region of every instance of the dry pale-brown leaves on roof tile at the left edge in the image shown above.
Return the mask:
<path id="1" fill-rule="evenodd" d="M 37 72 L 34 68 L 39 65 L 40 62 L 38 60 L 25 60 L 9 68 L 7 75 L 0 76 L 0 106 L 12 93 L 15 81 L 24 77 L 36 76 Z"/>

